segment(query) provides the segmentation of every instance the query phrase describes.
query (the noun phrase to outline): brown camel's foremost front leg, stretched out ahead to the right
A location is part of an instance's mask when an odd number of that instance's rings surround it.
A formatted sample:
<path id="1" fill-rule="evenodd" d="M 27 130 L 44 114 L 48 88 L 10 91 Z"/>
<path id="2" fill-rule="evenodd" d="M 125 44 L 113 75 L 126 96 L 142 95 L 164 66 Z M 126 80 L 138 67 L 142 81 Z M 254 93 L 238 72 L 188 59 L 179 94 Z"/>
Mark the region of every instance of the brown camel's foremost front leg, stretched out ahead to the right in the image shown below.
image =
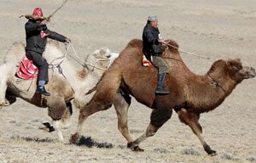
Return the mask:
<path id="1" fill-rule="evenodd" d="M 208 155 L 217 155 L 216 151 L 212 150 L 210 146 L 206 143 L 204 138 L 202 137 L 202 127 L 199 124 L 199 115 L 195 115 L 195 113 L 191 113 L 188 110 L 185 110 L 184 108 L 177 111 L 178 117 L 181 122 L 188 125 L 192 131 L 195 133 L 197 138 L 199 138 L 203 148 L 207 152 Z"/>

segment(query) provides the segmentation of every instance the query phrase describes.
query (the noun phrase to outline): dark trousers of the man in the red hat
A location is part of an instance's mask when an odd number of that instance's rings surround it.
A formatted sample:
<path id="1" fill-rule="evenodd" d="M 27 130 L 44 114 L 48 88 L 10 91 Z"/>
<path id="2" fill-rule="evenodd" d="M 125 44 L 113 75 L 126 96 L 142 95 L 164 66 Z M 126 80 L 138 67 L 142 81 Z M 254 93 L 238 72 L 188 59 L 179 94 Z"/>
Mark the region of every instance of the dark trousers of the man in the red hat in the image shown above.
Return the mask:
<path id="1" fill-rule="evenodd" d="M 41 53 L 34 51 L 26 51 L 26 58 L 33 61 L 33 64 L 38 67 L 38 81 L 49 81 L 47 60 L 42 57 Z"/>

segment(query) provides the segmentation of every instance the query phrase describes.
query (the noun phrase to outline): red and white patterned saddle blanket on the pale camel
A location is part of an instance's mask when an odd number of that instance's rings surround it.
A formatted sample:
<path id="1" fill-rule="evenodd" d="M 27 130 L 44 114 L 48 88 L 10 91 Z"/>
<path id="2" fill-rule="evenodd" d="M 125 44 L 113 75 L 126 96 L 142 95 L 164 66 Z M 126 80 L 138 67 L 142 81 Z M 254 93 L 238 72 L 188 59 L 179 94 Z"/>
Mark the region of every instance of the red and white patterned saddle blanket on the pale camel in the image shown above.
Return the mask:
<path id="1" fill-rule="evenodd" d="M 33 65 L 32 60 L 26 58 L 26 55 L 20 62 L 20 67 L 16 72 L 17 76 L 22 79 L 33 79 L 38 77 L 38 67 Z"/>

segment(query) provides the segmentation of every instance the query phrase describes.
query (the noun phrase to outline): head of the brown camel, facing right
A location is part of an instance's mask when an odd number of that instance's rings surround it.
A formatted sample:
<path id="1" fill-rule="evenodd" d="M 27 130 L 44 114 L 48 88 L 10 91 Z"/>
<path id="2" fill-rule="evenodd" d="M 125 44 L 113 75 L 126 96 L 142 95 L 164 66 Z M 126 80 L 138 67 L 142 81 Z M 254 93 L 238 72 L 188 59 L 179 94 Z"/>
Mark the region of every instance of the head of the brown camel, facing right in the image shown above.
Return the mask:
<path id="1" fill-rule="evenodd" d="M 244 79 L 256 76 L 255 69 L 253 69 L 253 67 L 241 65 L 240 59 L 228 59 L 226 61 L 226 68 L 230 78 L 236 82 L 241 82 Z"/>

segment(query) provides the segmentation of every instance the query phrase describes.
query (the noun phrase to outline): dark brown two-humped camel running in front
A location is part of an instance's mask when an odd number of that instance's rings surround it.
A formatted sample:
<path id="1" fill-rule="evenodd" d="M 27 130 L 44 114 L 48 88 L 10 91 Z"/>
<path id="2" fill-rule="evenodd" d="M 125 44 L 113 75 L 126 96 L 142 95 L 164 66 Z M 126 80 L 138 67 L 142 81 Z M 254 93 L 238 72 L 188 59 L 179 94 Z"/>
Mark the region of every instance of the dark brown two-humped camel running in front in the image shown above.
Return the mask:
<path id="1" fill-rule="evenodd" d="M 172 40 L 166 42 L 178 47 Z M 166 76 L 164 87 L 170 91 L 170 94 L 162 96 L 154 94 L 158 71 L 155 68 L 142 66 L 143 42 L 133 39 L 106 70 L 96 86 L 94 97 L 80 110 L 78 129 L 71 142 L 77 142 L 84 121 L 89 115 L 107 110 L 112 104 L 119 104 L 117 109 L 119 130 L 127 139 L 131 149 L 143 150 L 139 148 L 139 143 L 154 136 L 160 126 L 171 118 L 174 109 L 180 121 L 188 125 L 200 139 L 207 154 L 216 155 L 216 151 L 212 150 L 202 137 L 202 128 L 198 122 L 200 114 L 217 108 L 237 84 L 256 76 L 255 70 L 252 67 L 242 66 L 240 59 L 219 59 L 212 64 L 206 75 L 195 75 L 183 63 L 178 50 L 170 45 L 162 46 L 165 48 L 162 58 L 169 65 L 170 72 Z M 119 103 L 120 99 L 125 101 L 121 96 L 117 100 L 119 88 L 153 109 L 147 130 L 136 140 L 131 139 L 127 126 L 129 101 L 125 104 Z"/>

